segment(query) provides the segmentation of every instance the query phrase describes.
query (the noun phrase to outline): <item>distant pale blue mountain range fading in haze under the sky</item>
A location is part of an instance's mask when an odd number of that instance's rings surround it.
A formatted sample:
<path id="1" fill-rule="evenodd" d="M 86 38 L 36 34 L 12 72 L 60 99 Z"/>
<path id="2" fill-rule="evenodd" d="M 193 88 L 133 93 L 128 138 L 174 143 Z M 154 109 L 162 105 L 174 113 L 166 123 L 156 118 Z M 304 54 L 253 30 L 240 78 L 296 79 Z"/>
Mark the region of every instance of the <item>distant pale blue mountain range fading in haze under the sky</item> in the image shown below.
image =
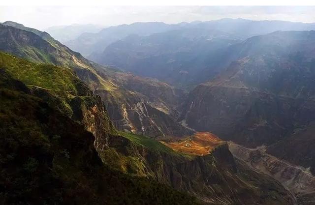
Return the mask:
<path id="1" fill-rule="evenodd" d="M 134 23 L 83 33 L 64 43 L 97 63 L 189 89 L 227 66 L 220 52 L 232 44 L 278 30 L 312 29 L 315 24 L 245 19 Z"/>

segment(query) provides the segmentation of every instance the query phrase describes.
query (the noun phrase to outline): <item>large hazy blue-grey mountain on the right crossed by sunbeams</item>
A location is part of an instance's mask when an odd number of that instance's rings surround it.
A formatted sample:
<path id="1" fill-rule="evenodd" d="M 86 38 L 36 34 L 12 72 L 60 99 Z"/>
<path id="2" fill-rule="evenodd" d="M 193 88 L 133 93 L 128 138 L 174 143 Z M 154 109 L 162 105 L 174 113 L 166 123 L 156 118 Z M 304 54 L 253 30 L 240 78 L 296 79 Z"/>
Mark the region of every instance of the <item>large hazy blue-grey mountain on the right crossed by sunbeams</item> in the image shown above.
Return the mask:
<path id="1" fill-rule="evenodd" d="M 314 48 L 314 31 L 275 32 L 234 46 L 242 59 L 192 90 L 181 119 L 246 146 L 283 140 L 314 121 Z"/>

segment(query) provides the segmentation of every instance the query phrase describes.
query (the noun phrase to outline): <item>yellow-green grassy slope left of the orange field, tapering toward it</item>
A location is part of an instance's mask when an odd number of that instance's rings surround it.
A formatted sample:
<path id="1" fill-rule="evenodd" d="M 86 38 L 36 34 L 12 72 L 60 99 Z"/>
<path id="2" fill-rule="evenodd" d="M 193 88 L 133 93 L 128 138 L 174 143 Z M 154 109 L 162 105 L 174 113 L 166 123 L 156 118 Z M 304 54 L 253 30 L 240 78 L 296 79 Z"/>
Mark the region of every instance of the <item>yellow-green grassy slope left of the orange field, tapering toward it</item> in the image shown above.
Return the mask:
<path id="1" fill-rule="evenodd" d="M 164 158 L 175 161 L 192 160 L 194 156 L 177 152 L 146 136 L 119 131 L 109 140 L 109 148 L 101 150 L 102 161 L 111 168 L 132 176 L 156 178 Z M 143 149 L 144 148 L 144 149 Z M 171 160 L 171 161 L 172 161 Z M 170 162 L 171 163 L 171 162 Z"/>

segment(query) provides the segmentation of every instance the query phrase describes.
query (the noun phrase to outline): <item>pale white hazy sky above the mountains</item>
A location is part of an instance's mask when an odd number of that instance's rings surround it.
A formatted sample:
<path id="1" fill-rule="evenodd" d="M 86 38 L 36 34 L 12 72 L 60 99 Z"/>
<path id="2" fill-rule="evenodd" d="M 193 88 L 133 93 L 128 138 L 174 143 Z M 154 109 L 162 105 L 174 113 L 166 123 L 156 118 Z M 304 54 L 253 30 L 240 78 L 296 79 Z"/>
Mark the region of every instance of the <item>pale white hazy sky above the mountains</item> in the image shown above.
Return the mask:
<path id="1" fill-rule="evenodd" d="M 113 26 L 221 18 L 314 23 L 314 11 L 315 6 L 0 6 L 0 22 L 15 21 L 36 29 L 70 24 Z"/>

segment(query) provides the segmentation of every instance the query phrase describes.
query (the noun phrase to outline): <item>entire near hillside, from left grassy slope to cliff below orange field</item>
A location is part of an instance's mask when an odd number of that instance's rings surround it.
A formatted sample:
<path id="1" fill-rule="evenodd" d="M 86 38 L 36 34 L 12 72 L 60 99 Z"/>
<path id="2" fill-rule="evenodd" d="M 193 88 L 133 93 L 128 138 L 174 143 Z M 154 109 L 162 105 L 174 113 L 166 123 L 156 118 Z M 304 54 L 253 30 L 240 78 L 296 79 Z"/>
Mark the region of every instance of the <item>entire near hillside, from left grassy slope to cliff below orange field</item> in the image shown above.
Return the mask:
<path id="1" fill-rule="evenodd" d="M 58 92 L 63 83 L 58 75 L 68 71 L 63 75 L 73 80 L 68 85 L 74 87 L 78 80 L 68 68 L 37 65 L 4 53 L 0 57 L 1 136 L 4 137 L 1 152 L 5 156 L 1 161 L 1 177 L 14 179 L 1 182 L 6 203 L 23 200 L 34 204 L 79 201 L 145 204 L 146 200 L 153 204 L 195 203 L 192 197 L 170 186 L 210 205 L 294 202 L 276 181 L 236 163 L 226 145 L 214 147 L 204 157 L 195 157 L 144 136 L 118 133 L 102 102 L 89 88 L 78 92 L 73 89 L 66 96 Z M 36 75 L 37 71 L 45 75 Z M 34 72 L 34 75 L 25 77 L 21 72 Z M 49 78 L 55 79 L 55 84 L 43 83 L 49 82 Z M 60 109 L 62 104 L 68 104 L 73 114 Z M 252 185 L 244 183 L 247 176 L 239 175 L 240 170 L 257 180 Z M 264 178 L 264 182 L 258 178 Z M 32 186 L 25 190 L 21 180 L 25 186 Z M 230 186 L 234 186 L 234 191 Z M 118 193 L 110 194 L 108 190 Z M 37 195 L 41 197 L 34 198 Z"/>

